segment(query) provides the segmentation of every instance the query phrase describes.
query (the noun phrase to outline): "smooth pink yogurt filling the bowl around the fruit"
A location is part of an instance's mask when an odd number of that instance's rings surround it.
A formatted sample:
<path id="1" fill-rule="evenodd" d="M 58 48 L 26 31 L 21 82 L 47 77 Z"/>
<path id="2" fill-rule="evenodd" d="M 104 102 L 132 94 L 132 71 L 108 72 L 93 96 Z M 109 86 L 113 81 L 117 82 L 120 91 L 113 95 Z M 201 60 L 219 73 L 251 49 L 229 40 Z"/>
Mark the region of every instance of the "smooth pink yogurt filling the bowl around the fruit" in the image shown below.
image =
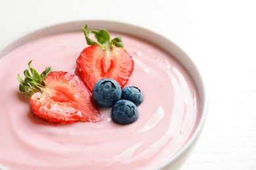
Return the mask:
<path id="1" fill-rule="evenodd" d="M 112 37 L 116 34 L 112 34 Z M 135 61 L 127 86 L 144 95 L 139 119 L 120 126 L 110 109 L 96 123 L 49 124 L 35 117 L 18 91 L 27 64 L 39 73 L 77 74 L 75 61 L 87 46 L 82 31 L 43 37 L 0 60 L 0 165 L 7 169 L 154 169 L 190 139 L 200 119 L 198 90 L 186 69 L 148 42 L 121 35 Z M 3 57 L 3 56 L 1 56 Z M 77 74 L 78 75 L 78 74 Z"/>

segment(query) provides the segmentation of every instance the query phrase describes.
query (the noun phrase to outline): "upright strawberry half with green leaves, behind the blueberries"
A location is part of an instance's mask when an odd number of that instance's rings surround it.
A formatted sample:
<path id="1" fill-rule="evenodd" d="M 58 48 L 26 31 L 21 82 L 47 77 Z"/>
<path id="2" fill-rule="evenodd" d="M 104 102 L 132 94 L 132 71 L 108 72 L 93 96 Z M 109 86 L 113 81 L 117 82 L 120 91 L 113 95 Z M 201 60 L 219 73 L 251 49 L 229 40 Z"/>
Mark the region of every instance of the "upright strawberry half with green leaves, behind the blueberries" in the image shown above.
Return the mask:
<path id="1" fill-rule="evenodd" d="M 98 80 L 112 78 L 123 88 L 133 72 L 134 61 L 123 48 L 121 37 L 110 41 L 108 31 L 89 31 L 87 25 L 83 32 L 89 47 L 77 58 L 77 69 L 87 87 L 92 90 Z M 98 42 L 89 39 L 90 32 L 95 34 Z"/>

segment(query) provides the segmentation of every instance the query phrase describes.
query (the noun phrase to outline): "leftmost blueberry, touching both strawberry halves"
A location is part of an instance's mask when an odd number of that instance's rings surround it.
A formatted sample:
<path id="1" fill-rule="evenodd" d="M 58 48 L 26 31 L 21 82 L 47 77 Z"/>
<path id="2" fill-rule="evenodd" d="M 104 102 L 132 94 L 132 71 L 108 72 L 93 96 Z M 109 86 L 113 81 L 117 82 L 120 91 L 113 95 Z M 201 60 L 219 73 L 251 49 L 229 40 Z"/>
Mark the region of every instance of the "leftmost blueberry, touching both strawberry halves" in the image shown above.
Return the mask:
<path id="1" fill-rule="evenodd" d="M 104 78 L 95 83 L 92 96 L 99 107 L 112 107 L 121 98 L 121 87 L 115 80 Z"/>

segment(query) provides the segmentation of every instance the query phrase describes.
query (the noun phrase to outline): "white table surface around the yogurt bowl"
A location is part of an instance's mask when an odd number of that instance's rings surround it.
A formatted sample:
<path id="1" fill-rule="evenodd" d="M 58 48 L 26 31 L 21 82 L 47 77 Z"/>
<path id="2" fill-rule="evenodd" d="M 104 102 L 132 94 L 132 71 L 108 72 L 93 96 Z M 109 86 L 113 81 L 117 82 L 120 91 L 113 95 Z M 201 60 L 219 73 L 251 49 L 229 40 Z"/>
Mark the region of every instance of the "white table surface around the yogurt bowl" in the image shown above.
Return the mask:
<path id="1" fill-rule="evenodd" d="M 198 65 L 209 98 L 182 170 L 256 169 L 256 1 L 0 0 L 0 46 L 72 20 L 127 22 L 177 42 Z"/>

